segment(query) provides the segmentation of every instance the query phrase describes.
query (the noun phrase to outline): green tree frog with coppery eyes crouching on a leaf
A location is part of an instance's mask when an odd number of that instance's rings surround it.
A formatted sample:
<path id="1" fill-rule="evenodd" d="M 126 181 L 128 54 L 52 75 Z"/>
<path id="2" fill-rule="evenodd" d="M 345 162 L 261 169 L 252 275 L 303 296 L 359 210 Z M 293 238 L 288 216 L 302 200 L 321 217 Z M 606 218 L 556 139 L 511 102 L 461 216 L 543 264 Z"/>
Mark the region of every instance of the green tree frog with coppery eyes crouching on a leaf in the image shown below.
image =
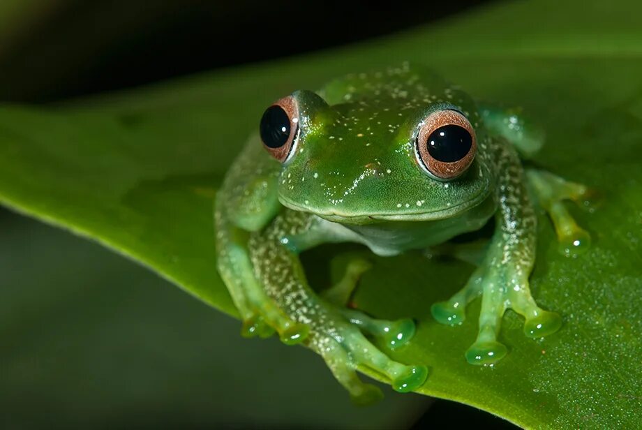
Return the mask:
<path id="1" fill-rule="evenodd" d="M 349 306 L 370 261 L 354 258 L 321 292 L 309 285 L 301 253 L 346 242 L 380 256 L 449 249 L 472 262 L 461 290 L 426 304 L 438 323 L 456 326 L 481 296 L 477 339 L 463 354 L 470 364 L 492 366 L 507 355 L 498 334 L 509 309 L 523 316 L 525 336 L 555 333 L 562 318 L 530 291 L 537 211 L 550 215 L 563 252 L 578 255 L 590 235 L 565 200 L 583 203 L 590 190 L 526 165 L 543 143 L 542 128 L 520 109 L 479 103 L 421 65 L 352 73 L 278 99 L 216 195 L 218 272 L 241 334 L 276 332 L 285 344 L 311 348 L 357 404 L 382 397 L 359 369 L 398 392 L 421 387 L 427 364 L 390 357 L 412 342 L 415 320 Z M 477 251 L 454 243 L 488 225 L 492 235 Z"/>

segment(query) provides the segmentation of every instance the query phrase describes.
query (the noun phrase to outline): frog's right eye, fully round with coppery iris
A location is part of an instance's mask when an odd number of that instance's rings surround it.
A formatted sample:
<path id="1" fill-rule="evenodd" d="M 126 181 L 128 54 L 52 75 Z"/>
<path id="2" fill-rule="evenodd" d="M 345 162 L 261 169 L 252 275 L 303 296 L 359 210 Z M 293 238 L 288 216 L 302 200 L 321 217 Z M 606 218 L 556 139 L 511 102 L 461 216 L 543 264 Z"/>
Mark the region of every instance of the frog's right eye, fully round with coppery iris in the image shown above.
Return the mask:
<path id="1" fill-rule="evenodd" d="M 440 110 L 424 119 L 415 142 L 417 161 L 428 175 L 447 181 L 465 172 L 475 158 L 477 138 L 466 117 Z"/>

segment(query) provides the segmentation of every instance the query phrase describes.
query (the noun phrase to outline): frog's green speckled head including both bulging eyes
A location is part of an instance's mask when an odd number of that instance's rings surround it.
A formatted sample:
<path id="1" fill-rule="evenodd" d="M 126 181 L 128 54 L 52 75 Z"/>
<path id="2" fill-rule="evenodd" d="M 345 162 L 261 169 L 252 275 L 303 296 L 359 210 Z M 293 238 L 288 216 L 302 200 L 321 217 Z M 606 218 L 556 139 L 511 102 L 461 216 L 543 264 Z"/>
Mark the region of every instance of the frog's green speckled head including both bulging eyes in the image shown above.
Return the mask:
<path id="1" fill-rule="evenodd" d="M 347 77 L 320 94 L 296 91 L 261 120 L 286 207 L 340 223 L 426 221 L 491 192 L 486 132 L 463 91 L 398 74 Z"/>

